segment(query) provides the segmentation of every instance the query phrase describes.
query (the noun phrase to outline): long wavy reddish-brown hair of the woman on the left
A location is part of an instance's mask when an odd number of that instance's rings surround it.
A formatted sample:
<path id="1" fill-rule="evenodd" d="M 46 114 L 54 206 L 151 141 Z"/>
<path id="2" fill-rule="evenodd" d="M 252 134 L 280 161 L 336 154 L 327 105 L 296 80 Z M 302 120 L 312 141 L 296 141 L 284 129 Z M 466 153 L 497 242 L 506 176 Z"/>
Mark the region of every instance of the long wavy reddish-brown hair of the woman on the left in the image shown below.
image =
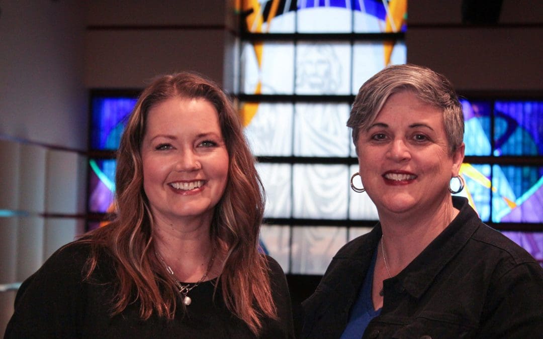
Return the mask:
<path id="1" fill-rule="evenodd" d="M 117 151 L 116 218 L 80 239 L 90 242 L 93 248 L 87 261 L 87 277 L 98 264 L 100 249 L 106 247 L 116 260 L 119 277 L 112 315 L 121 313 L 134 299 L 140 302 L 143 319 L 153 311 L 170 319 L 175 314 L 178 292 L 172 277 L 163 273 L 154 251 L 153 218 L 143 190 L 140 153 L 150 108 L 175 97 L 203 98 L 218 112 L 230 161 L 228 183 L 214 209 L 210 235 L 215 248 L 226 251 L 219 276 L 224 302 L 258 334 L 263 316 L 277 318 L 269 267 L 266 258 L 258 253 L 263 187 L 238 113 L 222 89 L 201 75 L 184 72 L 161 76 L 140 95 Z"/>

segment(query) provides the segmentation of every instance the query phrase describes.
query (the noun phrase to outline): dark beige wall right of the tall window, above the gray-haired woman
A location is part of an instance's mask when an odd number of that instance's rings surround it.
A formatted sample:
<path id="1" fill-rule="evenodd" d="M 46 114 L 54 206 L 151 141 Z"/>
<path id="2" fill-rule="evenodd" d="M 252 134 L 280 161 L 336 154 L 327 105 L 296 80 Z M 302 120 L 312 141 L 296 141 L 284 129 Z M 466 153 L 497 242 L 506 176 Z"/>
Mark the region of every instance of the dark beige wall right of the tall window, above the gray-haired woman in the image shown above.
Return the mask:
<path id="1" fill-rule="evenodd" d="M 543 4 L 503 0 L 501 27 L 462 24 L 462 0 L 409 0 L 407 60 L 444 73 L 460 92 L 543 91 Z"/>

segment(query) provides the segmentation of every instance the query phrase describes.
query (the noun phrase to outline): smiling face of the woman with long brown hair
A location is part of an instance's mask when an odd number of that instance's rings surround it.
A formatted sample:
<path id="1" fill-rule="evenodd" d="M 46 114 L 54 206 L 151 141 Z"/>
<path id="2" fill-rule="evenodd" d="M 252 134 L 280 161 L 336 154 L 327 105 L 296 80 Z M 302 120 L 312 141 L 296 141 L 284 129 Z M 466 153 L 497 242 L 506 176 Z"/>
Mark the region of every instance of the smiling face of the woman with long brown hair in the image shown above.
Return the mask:
<path id="1" fill-rule="evenodd" d="M 155 221 L 211 221 L 228 180 L 229 156 L 209 101 L 171 98 L 151 107 L 141 156 L 143 189 Z"/>

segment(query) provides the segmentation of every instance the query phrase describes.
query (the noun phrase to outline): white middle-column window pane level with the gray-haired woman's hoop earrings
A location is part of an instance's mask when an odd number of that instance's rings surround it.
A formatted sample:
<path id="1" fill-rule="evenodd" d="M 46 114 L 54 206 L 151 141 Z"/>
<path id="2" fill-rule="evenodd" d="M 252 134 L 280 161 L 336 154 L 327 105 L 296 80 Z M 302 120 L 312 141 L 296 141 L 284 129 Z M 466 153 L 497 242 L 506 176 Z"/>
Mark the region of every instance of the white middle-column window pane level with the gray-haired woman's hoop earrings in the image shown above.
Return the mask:
<path id="1" fill-rule="evenodd" d="M 295 218 L 347 218 L 348 166 L 295 164 L 293 171 Z"/>

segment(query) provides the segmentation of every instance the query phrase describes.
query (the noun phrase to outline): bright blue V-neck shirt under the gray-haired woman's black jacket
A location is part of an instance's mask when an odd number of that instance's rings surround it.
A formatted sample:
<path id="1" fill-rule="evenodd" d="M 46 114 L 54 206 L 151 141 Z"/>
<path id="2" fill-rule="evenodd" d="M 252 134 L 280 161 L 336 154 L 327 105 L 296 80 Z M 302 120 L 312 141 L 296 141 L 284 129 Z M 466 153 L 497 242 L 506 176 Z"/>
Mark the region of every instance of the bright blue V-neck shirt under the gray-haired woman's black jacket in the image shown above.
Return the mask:
<path id="1" fill-rule="evenodd" d="M 356 299 L 355 304 L 352 305 L 349 322 L 343 331 L 341 339 L 361 338 L 371 319 L 381 314 L 381 309 L 375 310 L 373 301 L 371 300 L 371 285 L 373 284 L 376 259 L 377 250 L 375 250 L 373 257 L 371 258 L 368 273 L 366 274 L 362 288 L 358 293 L 358 298 Z"/>

